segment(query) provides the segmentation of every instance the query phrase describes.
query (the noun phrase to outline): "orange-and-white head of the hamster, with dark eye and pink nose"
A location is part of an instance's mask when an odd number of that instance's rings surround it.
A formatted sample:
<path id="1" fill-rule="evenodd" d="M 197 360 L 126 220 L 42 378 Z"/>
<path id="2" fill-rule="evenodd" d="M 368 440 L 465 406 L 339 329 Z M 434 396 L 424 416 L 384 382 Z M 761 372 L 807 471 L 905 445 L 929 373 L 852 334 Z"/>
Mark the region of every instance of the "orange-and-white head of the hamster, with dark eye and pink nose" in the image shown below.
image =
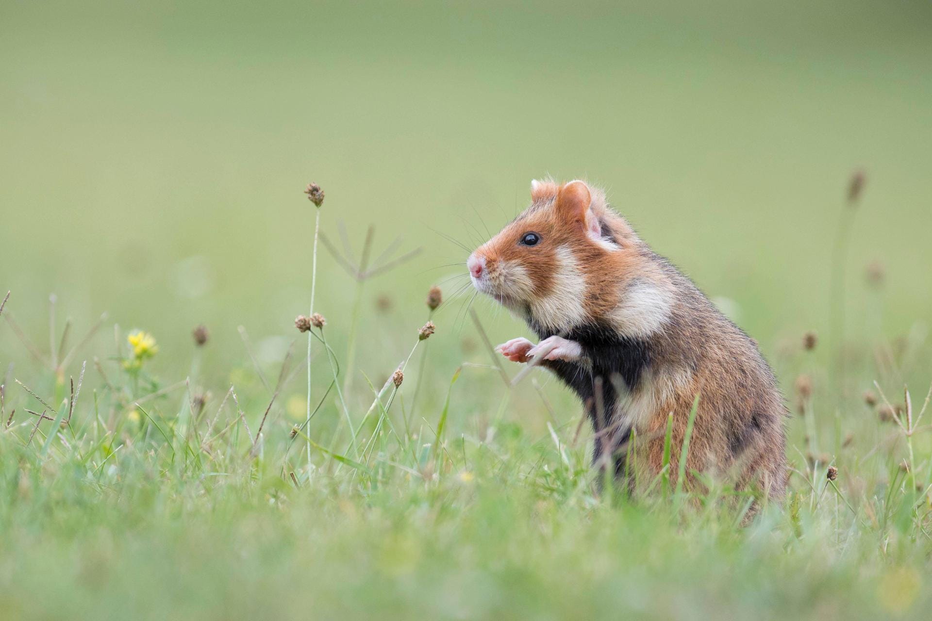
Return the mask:
<path id="1" fill-rule="evenodd" d="M 473 286 L 543 331 L 596 321 L 617 305 L 637 237 L 585 182 L 531 182 L 531 204 L 470 255 Z"/>

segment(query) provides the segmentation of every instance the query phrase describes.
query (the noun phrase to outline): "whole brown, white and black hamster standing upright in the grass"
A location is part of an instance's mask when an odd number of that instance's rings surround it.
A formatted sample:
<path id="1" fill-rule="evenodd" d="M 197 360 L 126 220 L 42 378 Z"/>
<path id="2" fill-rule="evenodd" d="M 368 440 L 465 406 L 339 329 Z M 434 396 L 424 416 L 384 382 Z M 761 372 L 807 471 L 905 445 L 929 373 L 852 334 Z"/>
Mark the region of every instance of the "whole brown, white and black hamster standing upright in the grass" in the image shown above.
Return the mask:
<path id="1" fill-rule="evenodd" d="M 636 479 L 650 482 L 663 466 L 672 412 L 675 481 L 698 395 L 687 489 L 701 490 L 693 472 L 708 473 L 782 500 L 788 412 L 773 371 L 747 334 L 610 209 L 604 192 L 582 181 L 531 182 L 528 209 L 474 250 L 467 268 L 476 290 L 540 339 L 513 339 L 500 354 L 554 371 L 583 400 L 595 467 L 612 467 L 632 491 Z"/>

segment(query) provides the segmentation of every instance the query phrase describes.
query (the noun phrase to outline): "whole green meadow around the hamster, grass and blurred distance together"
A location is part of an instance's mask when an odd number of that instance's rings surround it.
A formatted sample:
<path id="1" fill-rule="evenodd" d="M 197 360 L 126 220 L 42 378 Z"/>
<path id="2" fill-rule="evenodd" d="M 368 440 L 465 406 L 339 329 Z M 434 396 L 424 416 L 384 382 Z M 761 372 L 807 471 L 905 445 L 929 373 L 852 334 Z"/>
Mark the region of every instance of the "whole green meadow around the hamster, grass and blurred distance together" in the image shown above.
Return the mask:
<path id="1" fill-rule="evenodd" d="M 0 616 L 925 618 L 930 17 L 0 0 Z M 597 493 L 490 352 L 546 174 L 759 342 L 782 506 Z"/>

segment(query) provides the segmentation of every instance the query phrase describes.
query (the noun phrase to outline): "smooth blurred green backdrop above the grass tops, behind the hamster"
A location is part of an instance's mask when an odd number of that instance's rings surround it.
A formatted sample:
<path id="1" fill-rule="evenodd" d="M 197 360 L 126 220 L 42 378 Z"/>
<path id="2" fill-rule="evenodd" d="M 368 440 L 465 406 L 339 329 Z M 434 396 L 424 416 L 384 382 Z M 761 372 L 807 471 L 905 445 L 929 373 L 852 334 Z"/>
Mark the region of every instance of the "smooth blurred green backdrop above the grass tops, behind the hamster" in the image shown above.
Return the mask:
<path id="1" fill-rule="evenodd" d="M 930 17 L 893 1 L 2 0 L 0 289 L 36 340 L 55 292 L 77 332 L 108 311 L 167 361 L 204 322 L 212 357 L 241 358 L 237 326 L 290 338 L 307 312 L 315 181 L 333 238 L 343 219 L 357 251 L 369 223 L 377 250 L 424 247 L 367 285 L 367 309 L 393 300 L 363 325 L 375 373 L 464 259 L 433 229 L 472 247 L 551 174 L 606 186 L 773 354 L 825 330 L 863 168 L 849 331 L 897 335 L 932 317 Z M 326 253 L 321 277 L 338 339 L 352 288 Z M 495 336 L 525 333 L 478 307 Z M 436 318 L 450 347 L 472 332 L 458 310 Z M 28 364 L 10 331 L 0 344 Z"/>

